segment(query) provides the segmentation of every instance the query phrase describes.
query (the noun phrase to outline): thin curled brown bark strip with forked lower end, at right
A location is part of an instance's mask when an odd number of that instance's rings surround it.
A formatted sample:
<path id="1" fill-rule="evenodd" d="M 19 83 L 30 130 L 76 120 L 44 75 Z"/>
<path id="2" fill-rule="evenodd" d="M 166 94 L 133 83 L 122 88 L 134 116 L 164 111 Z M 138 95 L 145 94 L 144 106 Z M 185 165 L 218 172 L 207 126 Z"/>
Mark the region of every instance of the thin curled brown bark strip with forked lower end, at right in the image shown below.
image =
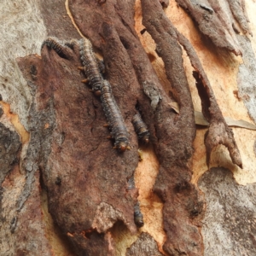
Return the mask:
<path id="1" fill-rule="evenodd" d="M 209 166 L 212 149 L 218 146 L 218 144 L 223 144 L 229 149 L 233 163 L 242 167 L 240 152 L 237 148 L 233 132 L 227 125 L 221 110 L 218 107 L 211 84 L 207 79 L 207 74 L 204 72 L 198 56 L 195 53 L 195 49 L 193 49 L 192 45 L 189 44 L 189 40 L 181 33 L 177 32 L 177 38 L 189 55 L 191 65 L 195 68 L 193 75 L 196 80 L 195 84 L 199 96 L 201 97 L 202 113 L 210 123 L 209 130 L 205 137 L 207 165 Z"/>

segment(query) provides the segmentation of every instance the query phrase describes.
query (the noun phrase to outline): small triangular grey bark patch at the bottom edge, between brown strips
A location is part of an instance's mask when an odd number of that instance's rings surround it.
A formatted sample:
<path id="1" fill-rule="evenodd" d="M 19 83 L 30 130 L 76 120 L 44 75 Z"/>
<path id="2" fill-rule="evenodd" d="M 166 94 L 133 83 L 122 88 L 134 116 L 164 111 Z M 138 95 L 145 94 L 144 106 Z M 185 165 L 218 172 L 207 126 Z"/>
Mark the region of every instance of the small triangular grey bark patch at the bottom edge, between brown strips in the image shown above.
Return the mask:
<path id="1" fill-rule="evenodd" d="M 156 241 L 148 233 L 142 233 L 137 241 L 135 241 L 129 249 L 127 249 L 125 256 L 162 256 L 157 247 Z"/>

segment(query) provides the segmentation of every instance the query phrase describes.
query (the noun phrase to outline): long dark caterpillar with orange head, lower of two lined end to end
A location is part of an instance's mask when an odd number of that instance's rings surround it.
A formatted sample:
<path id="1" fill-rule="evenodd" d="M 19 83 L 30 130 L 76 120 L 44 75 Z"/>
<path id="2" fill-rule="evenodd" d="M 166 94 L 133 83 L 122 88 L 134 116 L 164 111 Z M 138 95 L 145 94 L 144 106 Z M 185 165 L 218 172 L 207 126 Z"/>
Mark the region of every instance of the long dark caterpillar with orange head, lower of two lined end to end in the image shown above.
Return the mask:
<path id="1" fill-rule="evenodd" d="M 119 152 L 124 152 L 126 148 L 130 148 L 128 146 L 129 135 L 117 103 L 113 98 L 111 85 L 108 80 L 103 80 L 101 87 L 101 101 L 103 111 L 108 120 L 108 125 L 111 128 L 111 134 L 114 139 L 113 148 L 117 148 Z"/>

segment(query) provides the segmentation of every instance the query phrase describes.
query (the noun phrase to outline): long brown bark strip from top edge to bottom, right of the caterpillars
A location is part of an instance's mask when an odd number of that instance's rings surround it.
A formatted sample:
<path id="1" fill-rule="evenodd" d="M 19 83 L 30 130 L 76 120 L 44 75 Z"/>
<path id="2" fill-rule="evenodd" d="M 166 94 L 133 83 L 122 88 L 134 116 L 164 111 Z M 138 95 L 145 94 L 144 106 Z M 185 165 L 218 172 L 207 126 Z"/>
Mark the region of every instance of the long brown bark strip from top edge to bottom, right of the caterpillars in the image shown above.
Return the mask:
<path id="1" fill-rule="evenodd" d="M 163 210 L 167 240 L 164 250 L 170 255 L 202 255 L 203 245 L 196 217 L 202 213 L 198 191 L 189 183 L 189 160 L 193 153 L 195 121 L 189 85 L 183 70 L 182 49 L 175 29 L 157 1 L 142 1 L 143 25 L 157 44 L 166 67 L 167 79 L 180 105 L 180 114 L 166 112 L 162 101 L 161 119 L 156 123 L 160 148 L 160 173 L 154 190 L 165 201 Z M 166 104 L 166 105 L 165 105 Z"/>

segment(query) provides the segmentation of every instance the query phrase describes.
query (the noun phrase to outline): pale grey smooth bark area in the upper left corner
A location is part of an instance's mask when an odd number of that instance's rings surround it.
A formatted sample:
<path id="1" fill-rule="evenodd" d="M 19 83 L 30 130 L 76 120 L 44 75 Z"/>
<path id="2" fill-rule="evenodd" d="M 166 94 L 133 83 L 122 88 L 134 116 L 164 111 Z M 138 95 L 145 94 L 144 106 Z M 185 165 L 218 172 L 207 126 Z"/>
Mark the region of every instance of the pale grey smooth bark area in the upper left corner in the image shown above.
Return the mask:
<path id="1" fill-rule="evenodd" d="M 39 0 L 15 3 L 2 2 L 0 45 L 0 90 L 4 102 L 19 115 L 20 123 L 27 130 L 27 117 L 32 102 L 30 90 L 15 61 L 18 56 L 39 53 L 45 38 L 45 26 L 38 11 Z"/>

